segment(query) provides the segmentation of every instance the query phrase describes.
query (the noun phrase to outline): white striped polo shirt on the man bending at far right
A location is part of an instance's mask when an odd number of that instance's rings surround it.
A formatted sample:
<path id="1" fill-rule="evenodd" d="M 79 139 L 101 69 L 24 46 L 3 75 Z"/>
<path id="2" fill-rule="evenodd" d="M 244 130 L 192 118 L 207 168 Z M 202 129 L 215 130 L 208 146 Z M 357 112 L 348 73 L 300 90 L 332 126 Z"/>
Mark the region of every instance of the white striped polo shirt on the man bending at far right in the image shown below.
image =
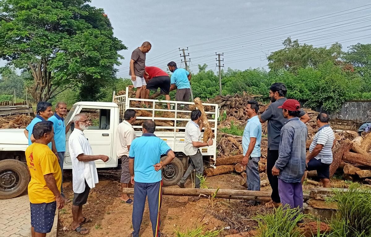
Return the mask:
<path id="1" fill-rule="evenodd" d="M 317 144 L 323 145 L 322 150 L 314 158 L 321 159 L 322 163 L 332 163 L 332 144 L 334 143 L 335 134 L 329 124 L 326 124 L 318 129 L 318 132 L 313 138 L 309 151 L 312 153 Z"/>

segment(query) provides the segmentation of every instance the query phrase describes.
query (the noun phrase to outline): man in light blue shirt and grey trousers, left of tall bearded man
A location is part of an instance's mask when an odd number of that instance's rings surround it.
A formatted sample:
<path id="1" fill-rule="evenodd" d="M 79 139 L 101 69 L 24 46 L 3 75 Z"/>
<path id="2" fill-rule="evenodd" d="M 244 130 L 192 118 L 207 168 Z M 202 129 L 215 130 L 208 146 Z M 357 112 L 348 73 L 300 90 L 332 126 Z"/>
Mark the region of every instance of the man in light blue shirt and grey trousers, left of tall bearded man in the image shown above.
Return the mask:
<path id="1" fill-rule="evenodd" d="M 262 124 L 257 113 L 259 104 L 255 100 L 247 101 L 246 113 L 249 119 L 243 130 L 242 148 L 244 157 L 241 161 L 246 166 L 247 190 L 260 191 L 259 160 L 260 142 L 262 141 Z M 251 205 L 256 205 L 256 201 L 250 201 Z"/>

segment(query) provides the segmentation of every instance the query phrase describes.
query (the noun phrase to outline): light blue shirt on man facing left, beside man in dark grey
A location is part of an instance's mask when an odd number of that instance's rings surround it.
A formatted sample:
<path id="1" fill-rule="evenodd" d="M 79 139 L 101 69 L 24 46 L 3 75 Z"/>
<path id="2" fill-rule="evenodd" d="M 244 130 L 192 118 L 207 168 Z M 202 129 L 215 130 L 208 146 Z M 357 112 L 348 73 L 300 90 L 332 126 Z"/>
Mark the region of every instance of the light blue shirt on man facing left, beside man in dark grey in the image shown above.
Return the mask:
<path id="1" fill-rule="evenodd" d="M 247 148 L 249 148 L 250 138 L 256 137 L 256 143 L 253 152 L 250 154 L 251 157 L 260 157 L 260 143 L 262 141 L 262 124 L 259 121 L 258 116 L 254 116 L 247 120 L 245 129 L 243 130 L 242 137 L 242 149 L 243 155 L 246 154 Z"/>

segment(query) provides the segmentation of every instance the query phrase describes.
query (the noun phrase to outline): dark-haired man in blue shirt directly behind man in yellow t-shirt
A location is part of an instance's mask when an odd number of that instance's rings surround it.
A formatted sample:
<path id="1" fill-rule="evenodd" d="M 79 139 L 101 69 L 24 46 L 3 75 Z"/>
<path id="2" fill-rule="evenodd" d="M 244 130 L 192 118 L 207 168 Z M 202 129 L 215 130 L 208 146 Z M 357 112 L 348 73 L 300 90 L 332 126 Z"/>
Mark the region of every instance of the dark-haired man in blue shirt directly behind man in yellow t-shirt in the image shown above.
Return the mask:
<path id="1" fill-rule="evenodd" d="M 35 126 L 36 123 L 48 120 L 50 117 L 52 117 L 52 115 L 53 115 L 53 110 L 52 110 L 51 103 L 45 102 L 45 101 L 40 101 L 39 103 L 37 103 L 36 117 L 35 119 L 31 121 L 31 123 L 23 131 L 24 135 L 28 138 L 29 146 L 35 141 L 35 138 L 33 137 L 33 134 L 32 134 L 33 126 Z M 57 150 L 55 148 L 54 138 L 52 138 L 52 141 L 49 144 L 47 144 L 47 146 L 53 151 L 55 155 L 58 155 Z"/>

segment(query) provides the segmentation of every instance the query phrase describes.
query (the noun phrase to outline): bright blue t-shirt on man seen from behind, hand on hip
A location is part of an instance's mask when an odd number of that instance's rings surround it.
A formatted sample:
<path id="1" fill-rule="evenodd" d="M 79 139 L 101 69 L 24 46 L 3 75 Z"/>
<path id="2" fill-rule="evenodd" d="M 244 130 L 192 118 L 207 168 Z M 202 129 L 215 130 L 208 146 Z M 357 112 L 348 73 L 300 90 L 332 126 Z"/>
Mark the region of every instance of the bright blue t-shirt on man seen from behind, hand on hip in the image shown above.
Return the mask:
<path id="1" fill-rule="evenodd" d="M 160 156 L 167 154 L 170 147 L 164 140 L 153 133 L 143 133 L 134 139 L 129 150 L 129 158 L 134 159 L 134 181 L 139 183 L 156 183 L 162 180 L 161 170 L 156 171 L 155 164 Z"/>

